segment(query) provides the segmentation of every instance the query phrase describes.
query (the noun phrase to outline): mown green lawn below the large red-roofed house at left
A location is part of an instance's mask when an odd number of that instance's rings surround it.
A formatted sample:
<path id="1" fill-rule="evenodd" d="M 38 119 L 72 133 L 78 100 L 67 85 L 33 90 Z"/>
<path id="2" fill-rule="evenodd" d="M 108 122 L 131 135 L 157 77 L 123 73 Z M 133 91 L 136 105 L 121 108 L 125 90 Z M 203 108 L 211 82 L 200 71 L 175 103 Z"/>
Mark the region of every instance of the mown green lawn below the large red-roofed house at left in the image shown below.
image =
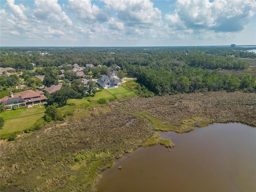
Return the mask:
<path id="1" fill-rule="evenodd" d="M 4 118 L 4 126 L 0 134 L 6 134 L 15 131 L 22 131 L 32 126 L 36 120 L 44 116 L 45 108 L 24 108 L 10 110 L 0 114 Z"/>

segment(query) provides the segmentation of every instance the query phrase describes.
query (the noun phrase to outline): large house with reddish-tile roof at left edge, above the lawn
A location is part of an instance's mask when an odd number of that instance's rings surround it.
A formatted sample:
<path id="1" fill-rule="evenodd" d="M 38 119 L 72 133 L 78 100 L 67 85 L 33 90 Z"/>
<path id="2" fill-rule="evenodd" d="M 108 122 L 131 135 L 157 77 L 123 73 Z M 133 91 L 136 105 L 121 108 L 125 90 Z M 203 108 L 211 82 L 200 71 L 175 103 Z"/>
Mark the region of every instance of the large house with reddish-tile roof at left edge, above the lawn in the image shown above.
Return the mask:
<path id="1" fill-rule="evenodd" d="M 0 105 L 5 105 L 6 109 L 14 107 L 34 106 L 46 103 L 47 97 L 42 91 L 26 90 L 18 94 L 10 93 L 10 96 L 5 96 L 0 99 Z"/>

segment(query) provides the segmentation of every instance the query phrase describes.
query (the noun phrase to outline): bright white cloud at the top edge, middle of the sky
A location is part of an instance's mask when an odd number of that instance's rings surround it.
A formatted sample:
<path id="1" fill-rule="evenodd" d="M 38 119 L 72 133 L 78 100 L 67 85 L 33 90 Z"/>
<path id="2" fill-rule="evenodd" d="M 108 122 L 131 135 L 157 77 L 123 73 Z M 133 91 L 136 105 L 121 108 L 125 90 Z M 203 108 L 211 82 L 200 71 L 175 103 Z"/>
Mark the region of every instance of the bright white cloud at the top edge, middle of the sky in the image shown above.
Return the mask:
<path id="1" fill-rule="evenodd" d="M 103 0 L 127 26 L 148 28 L 162 23 L 162 12 L 150 0 Z"/>

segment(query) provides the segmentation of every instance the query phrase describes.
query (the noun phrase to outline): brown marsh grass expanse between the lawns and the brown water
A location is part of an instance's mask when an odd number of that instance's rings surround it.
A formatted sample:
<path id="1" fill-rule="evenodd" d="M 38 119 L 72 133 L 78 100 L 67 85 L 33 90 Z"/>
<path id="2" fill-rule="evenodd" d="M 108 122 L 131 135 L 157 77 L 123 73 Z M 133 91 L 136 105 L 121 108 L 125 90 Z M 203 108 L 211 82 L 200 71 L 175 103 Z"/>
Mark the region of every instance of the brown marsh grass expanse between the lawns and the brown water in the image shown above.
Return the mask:
<path id="1" fill-rule="evenodd" d="M 140 113 L 144 116 L 137 115 Z M 177 94 L 81 108 L 65 122 L 50 122 L 12 142 L 0 141 L 0 190 L 16 187 L 24 192 L 93 192 L 102 170 L 113 159 L 141 146 L 174 145 L 153 136 L 149 120 L 153 126 L 176 126 L 177 132 L 190 130 L 182 125 L 213 122 L 256 127 L 256 94 Z"/>

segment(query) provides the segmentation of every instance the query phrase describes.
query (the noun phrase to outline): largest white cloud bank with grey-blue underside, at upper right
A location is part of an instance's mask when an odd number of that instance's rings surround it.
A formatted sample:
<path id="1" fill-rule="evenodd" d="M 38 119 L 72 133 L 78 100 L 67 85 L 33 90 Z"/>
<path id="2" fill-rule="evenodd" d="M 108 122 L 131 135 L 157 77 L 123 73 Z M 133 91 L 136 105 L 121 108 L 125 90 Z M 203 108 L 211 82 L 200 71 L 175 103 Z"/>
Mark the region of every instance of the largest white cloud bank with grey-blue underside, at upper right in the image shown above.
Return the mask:
<path id="1" fill-rule="evenodd" d="M 255 0 L 177 0 L 175 13 L 166 14 L 173 28 L 236 32 L 244 29 L 256 12 Z"/>

